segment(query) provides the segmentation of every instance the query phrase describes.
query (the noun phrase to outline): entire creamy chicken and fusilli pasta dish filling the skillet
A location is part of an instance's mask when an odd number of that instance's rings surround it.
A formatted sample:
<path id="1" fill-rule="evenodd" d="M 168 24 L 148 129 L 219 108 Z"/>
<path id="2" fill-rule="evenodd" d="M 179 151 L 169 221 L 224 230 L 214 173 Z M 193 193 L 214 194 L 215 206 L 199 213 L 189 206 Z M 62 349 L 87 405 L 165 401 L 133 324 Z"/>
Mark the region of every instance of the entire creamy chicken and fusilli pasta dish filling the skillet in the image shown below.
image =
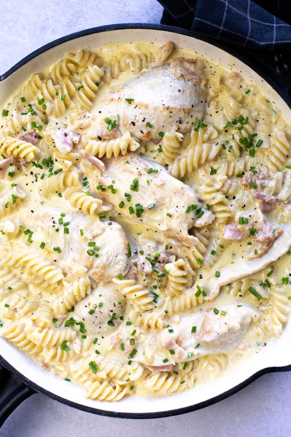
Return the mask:
<path id="1" fill-rule="evenodd" d="M 87 397 L 181 392 L 288 320 L 291 127 L 156 44 L 66 53 L 0 110 L 0 335 Z"/>

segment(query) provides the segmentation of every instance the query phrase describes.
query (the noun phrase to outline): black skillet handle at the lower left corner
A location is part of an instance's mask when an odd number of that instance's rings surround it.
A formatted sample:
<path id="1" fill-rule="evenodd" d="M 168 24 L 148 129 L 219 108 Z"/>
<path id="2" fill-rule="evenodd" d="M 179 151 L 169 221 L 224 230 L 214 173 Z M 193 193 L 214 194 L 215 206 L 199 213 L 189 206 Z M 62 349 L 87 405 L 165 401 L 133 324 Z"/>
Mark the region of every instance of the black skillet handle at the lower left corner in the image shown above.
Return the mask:
<path id="1" fill-rule="evenodd" d="M 0 366 L 0 427 L 8 416 L 35 391 Z"/>

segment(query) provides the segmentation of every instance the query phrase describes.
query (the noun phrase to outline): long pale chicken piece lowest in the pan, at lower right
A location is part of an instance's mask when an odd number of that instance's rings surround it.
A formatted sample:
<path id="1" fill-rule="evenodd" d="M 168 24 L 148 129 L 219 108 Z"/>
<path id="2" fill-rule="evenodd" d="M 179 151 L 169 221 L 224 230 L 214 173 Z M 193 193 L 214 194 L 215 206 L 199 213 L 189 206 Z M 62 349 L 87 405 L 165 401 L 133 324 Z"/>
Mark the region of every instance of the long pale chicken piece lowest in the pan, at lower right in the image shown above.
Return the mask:
<path id="1" fill-rule="evenodd" d="M 173 329 L 139 336 L 138 353 L 133 360 L 147 366 L 167 366 L 194 360 L 209 353 L 232 351 L 242 344 L 242 337 L 252 322 L 260 319 L 259 311 L 248 304 L 230 303 L 222 307 L 208 308 L 195 314 L 183 316 Z M 195 326 L 195 332 L 192 327 Z M 174 351 L 174 353 L 169 351 Z M 171 369 L 163 369 L 165 371 Z"/>

